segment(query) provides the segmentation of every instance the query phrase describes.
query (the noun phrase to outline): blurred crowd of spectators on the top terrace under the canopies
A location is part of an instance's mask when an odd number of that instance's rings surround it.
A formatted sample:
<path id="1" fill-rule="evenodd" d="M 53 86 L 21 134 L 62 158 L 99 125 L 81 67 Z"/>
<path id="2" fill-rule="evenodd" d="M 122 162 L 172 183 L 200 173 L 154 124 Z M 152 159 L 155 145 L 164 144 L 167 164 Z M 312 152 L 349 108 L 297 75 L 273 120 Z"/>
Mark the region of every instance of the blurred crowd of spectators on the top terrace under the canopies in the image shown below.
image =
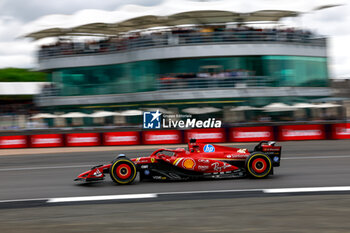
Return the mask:
<path id="1" fill-rule="evenodd" d="M 89 53 L 125 51 L 152 46 L 171 46 L 191 43 L 220 43 L 234 41 L 298 41 L 307 42 L 310 31 L 294 28 L 254 28 L 248 26 L 174 27 L 169 29 L 129 32 L 103 40 L 71 41 L 59 39 L 54 44 L 43 45 L 39 59 Z"/>

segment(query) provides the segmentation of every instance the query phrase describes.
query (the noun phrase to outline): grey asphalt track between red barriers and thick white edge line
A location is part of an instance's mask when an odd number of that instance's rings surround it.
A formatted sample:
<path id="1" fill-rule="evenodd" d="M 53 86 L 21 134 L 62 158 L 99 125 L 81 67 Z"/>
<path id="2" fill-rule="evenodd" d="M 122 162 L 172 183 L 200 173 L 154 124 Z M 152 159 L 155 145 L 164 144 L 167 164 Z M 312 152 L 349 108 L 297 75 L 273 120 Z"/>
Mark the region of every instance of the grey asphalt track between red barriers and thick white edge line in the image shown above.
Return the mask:
<path id="1" fill-rule="evenodd" d="M 73 179 L 91 166 L 110 162 L 118 153 L 147 156 L 153 149 L 0 157 L 0 201 L 70 196 L 162 193 L 179 191 L 350 186 L 350 141 L 281 142 L 281 167 L 268 179 L 192 182 L 135 182 L 115 185 L 106 180 L 82 185 Z M 253 144 L 242 147 L 252 148 Z M 59 152 L 59 148 L 57 148 Z"/>

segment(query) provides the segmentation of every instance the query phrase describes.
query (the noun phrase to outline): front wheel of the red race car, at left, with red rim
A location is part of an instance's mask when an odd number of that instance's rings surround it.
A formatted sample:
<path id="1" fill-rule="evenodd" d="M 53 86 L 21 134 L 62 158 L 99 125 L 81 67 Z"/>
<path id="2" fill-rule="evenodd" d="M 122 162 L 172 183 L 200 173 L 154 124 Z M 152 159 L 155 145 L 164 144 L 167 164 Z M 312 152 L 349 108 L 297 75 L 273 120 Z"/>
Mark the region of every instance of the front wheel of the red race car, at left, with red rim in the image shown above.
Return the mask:
<path id="1" fill-rule="evenodd" d="M 137 169 L 130 159 L 124 157 L 112 163 L 109 174 L 117 184 L 131 184 L 136 178 Z"/>

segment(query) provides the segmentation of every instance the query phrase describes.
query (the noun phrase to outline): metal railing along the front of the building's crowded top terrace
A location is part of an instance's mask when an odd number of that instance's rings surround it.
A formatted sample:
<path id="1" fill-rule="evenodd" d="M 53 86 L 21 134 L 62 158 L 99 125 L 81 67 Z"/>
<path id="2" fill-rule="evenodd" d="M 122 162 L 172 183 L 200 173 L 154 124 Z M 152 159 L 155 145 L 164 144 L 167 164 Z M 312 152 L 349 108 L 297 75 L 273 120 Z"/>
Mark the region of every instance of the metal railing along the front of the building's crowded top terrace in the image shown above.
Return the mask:
<path id="1" fill-rule="evenodd" d="M 39 60 L 61 56 L 84 54 L 104 54 L 125 52 L 152 47 L 168 47 L 194 44 L 225 44 L 242 42 L 288 42 L 304 43 L 311 46 L 325 46 L 325 38 L 316 38 L 303 32 L 284 31 L 223 31 L 193 32 L 182 34 L 151 34 L 138 38 L 111 38 L 104 42 L 81 43 L 60 42 L 56 45 L 44 46 L 39 51 Z"/>

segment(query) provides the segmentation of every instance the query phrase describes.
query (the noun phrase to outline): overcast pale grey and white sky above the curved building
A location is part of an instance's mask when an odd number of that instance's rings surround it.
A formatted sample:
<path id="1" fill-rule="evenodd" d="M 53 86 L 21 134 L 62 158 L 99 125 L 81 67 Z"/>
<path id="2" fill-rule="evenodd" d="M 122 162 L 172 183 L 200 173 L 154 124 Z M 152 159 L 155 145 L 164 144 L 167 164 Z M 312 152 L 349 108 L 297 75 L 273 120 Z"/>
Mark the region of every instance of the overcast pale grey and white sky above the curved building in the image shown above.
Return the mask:
<path id="1" fill-rule="evenodd" d="M 347 0 L 0 0 L 0 67 L 35 68 L 40 43 L 22 36 L 51 27 L 92 22 L 118 22 L 145 14 L 167 15 L 197 9 L 250 12 L 283 9 L 308 12 L 283 23 L 302 26 L 329 37 L 329 65 L 333 78 L 350 78 L 350 6 Z M 127 4 L 126 4 L 127 3 Z M 317 6 L 340 7 L 310 12 Z"/>

